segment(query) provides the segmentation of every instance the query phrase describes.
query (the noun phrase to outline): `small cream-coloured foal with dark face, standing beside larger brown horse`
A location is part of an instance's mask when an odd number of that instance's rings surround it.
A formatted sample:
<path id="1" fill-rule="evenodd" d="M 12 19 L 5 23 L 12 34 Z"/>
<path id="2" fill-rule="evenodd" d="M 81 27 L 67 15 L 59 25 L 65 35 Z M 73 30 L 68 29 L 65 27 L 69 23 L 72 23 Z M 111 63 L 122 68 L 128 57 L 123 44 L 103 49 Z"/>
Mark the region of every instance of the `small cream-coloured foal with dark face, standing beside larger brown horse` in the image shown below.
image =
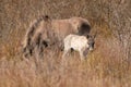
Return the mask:
<path id="1" fill-rule="evenodd" d="M 94 49 L 94 38 L 95 37 L 92 36 L 79 36 L 73 34 L 68 35 L 63 40 L 64 52 L 62 58 L 64 58 L 67 53 L 73 49 L 79 51 L 81 60 L 84 60 L 87 52 Z"/>

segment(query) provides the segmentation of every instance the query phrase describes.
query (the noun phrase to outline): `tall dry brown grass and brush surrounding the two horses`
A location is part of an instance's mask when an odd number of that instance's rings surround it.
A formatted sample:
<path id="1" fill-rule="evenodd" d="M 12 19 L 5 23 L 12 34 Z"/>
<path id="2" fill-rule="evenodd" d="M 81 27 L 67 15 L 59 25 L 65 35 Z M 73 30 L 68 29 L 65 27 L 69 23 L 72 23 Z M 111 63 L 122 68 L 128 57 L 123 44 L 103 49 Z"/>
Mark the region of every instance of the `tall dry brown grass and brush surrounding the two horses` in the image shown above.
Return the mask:
<path id="1" fill-rule="evenodd" d="M 124 0 L 115 0 L 110 7 L 108 1 L 110 0 L 1 1 L 0 87 L 131 87 L 131 62 L 128 60 L 131 55 L 128 38 L 131 35 L 130 23 L 126 22 L 126 27 L 118 26 L 116 23 L 124 26 L 124 20 L 116 18 L 114 13 L 118 3 L 117 8 L 121 9 L 122 5 L 123 11 L 130 10 L 130 5 Z M 127 16 L 130 14 L 128 12 L 130 11 L 124 12 Z M 78 52 L 74 52 L 61 64 L 62 52 L 53 49 L 45 50 L 41 59 L 23 59 L 20 50 L 26 28 L 41 14 L 49 14 L 53 18 L 88 18 L 92 34 L 98 30 L 95 50 L 83 62 Z"/>

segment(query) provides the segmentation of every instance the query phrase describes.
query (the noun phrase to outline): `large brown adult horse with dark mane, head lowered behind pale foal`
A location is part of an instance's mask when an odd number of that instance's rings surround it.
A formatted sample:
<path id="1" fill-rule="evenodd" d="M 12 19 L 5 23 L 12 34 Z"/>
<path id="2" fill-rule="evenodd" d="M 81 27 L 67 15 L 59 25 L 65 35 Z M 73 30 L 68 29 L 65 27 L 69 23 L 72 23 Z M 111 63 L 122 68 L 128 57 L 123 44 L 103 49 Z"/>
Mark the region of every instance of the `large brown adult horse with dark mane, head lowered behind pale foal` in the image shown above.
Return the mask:
<path id="1" fill-rule="evenodd" d="M 23 48 L 26 55 L 33 52 L 41 53 L 49 45 L 61 47 L 62 40 L 69 34 L 88 35 L 91 25 L 82 17 L 51 20 L 48 15 L 37 18 L 28 28 Z"/>

